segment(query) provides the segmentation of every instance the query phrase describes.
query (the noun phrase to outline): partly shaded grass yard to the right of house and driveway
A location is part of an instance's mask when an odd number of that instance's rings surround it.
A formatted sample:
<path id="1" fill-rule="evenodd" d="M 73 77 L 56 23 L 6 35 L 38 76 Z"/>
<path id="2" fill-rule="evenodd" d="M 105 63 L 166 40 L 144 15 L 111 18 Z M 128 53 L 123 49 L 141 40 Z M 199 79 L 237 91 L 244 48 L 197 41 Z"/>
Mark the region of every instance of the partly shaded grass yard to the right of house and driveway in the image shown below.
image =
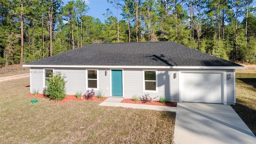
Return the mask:
<path id="1" fill-rule="evenodd" d="M 256 73 L 236 73 L 236 105 L 232 108 L 256 135 Z"/>

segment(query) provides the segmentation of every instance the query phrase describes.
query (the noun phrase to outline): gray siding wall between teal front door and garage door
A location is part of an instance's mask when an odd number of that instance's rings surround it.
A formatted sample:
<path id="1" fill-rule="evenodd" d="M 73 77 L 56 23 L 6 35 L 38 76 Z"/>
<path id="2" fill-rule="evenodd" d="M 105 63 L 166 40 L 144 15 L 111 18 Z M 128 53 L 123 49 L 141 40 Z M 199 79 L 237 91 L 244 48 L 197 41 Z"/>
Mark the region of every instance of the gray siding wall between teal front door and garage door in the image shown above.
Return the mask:
<path id="1" fill-rule="evenodd" d="M 145 69 L 146 70 L 146 69 Z M 154 70 L 154 69 L 152 69 Z M 157 69 L 156 69 L 157 70 Z M 148 92 L 150 97 L 166 96 L 170 101 L 179 100 L 179 81 L 173 77 L 178 70 L 157 70 L 158 72 L 158 92 Z M 143 92 L 143 72 L 142 69 L 124 69 L 124 97 L 142 96 Z"/>

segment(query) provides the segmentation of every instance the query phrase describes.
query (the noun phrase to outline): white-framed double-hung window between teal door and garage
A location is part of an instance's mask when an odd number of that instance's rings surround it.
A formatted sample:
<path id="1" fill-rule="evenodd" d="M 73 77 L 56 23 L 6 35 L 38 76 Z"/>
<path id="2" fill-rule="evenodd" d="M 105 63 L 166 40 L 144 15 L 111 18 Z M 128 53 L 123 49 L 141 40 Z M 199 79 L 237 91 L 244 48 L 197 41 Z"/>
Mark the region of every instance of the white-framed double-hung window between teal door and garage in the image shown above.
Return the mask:
<path id="1" fill-rule="evenodd" d="M 157 71 L 143 70 L 144 92 L 157 92 Z"/>

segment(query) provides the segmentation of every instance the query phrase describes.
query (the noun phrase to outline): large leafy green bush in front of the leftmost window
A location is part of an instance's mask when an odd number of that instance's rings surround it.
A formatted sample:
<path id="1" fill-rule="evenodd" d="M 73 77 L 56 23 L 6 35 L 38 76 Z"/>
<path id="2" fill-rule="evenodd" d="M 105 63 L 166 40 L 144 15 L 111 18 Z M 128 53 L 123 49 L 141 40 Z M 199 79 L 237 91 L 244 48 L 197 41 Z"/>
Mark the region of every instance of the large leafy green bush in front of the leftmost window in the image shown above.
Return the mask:
<path id="1" fill-rule="evenodd" d="M 66 82 L 64 80 L 66 76 L 62 75 L 60 72 L 56 72 L 53 78 L 49 80 L 49 86 L 46 87 L 44 94 L 49 96 L 50 100 L 63 100 L 66 97 Z"/>

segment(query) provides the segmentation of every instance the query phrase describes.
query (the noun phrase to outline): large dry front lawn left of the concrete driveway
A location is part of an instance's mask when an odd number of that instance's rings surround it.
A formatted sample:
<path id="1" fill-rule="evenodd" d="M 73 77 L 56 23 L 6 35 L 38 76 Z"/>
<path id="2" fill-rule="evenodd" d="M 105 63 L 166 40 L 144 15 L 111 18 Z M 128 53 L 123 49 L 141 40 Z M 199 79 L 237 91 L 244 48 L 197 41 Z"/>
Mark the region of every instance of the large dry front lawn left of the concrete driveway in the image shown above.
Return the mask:
<path id="1" fill-rule="evenodd" d="M 97 101 L 58 104 L 26 97 L 28 85 L 29 78 L 0 82 L 1 144 L 174 143 L 175 112 L 105 107 Z"/>

